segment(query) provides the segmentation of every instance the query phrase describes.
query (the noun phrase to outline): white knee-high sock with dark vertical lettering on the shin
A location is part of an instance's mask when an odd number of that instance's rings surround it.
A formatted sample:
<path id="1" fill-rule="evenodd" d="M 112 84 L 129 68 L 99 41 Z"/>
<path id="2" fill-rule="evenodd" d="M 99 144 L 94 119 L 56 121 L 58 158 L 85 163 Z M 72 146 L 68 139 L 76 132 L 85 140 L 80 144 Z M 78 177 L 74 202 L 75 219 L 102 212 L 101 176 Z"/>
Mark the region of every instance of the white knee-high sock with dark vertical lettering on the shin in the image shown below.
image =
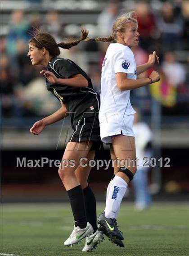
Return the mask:
<path id="1" fill-rule="evenodd" d="M 116 219 L 122 198 L 127 189 L 127 183 L 119 176 L 115 176 L 109 183 L 109 193 L 106 199 L 105 217 Z"/>

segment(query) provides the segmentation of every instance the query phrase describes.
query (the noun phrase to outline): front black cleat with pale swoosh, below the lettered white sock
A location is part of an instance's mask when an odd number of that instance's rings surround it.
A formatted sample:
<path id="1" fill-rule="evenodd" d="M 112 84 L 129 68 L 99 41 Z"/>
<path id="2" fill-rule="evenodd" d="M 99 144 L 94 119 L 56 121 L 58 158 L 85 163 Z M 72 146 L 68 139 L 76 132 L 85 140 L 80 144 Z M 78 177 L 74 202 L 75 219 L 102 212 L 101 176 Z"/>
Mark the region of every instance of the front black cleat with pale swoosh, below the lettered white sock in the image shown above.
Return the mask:
<path id="1" fill-rule="evenodd" d="M 123 240 L 122 232 L 117 229 L 116 219 L 108 219 L 104 213 L 101 213 L 98 218 L 99 230 L 102 231 L 112 242 Z M 116 239 L 117 238 L 117 239 Z M 116 243 L 116 242 L 115 242 Z M 123 246 L 121 246 L 123 247 Z"/>

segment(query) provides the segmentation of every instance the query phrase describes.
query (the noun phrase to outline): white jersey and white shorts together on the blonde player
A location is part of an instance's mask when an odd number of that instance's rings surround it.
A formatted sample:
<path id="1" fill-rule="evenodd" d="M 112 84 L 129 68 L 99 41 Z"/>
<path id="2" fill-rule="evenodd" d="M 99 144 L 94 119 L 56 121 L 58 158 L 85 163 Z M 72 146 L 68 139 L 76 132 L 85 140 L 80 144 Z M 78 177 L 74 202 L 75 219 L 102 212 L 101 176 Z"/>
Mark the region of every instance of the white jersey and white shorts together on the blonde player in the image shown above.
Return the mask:
<path id="1" fill-rule="evenodd" d="M 126 73 L 127 78 L 136 79 L 135 58 L 128 46 L 114 43 L 108 46 L 102 64 L 100 88 L 100 137 L 111 143 L 111 136 L 123 134 L 133 136 L 135 110 L 130 104 L 130 90 L 118 90 L 116 73 Z"/>

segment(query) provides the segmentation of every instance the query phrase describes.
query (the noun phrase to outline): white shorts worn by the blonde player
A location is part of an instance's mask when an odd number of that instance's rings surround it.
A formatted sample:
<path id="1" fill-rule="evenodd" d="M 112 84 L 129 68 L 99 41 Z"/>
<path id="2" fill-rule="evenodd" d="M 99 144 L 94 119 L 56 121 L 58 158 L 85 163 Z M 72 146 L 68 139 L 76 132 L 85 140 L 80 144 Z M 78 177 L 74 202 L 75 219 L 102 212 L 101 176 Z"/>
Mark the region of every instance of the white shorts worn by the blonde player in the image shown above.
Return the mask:
<path id="1" fill-rule="evenodd" d="M 113 114 L 106 115 L 106 118 L 99 118 L 100 137 L 104 143 L 112 143 L 111 136 L 125 135 L 135 137 L 133 132 L 134 114 Z"/>

